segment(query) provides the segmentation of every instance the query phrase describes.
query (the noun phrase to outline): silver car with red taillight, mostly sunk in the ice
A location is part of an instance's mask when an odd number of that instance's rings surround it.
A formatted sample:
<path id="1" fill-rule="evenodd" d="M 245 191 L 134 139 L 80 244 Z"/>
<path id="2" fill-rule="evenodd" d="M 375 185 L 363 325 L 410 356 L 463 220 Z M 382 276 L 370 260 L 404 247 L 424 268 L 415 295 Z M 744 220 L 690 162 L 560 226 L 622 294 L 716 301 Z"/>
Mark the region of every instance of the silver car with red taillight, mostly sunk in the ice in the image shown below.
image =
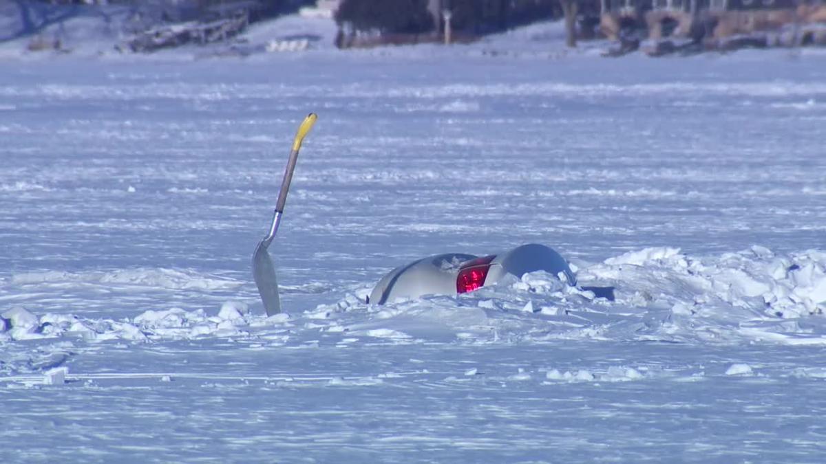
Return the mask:
<path id="1" fill-rule="evenodd" d="M 382 277 L 367 302 L 383 305 L 425 295 L 456 295 L 496 284 L 508 275 L 520 278 L 535 271 L 548 272 L 570 286 L 577 286 L 577 276 L 562 255 L 542 244 L 526 244 L 482 257 L 465 253 L 437 254 L 400 266 Z M 612 287 L 581 288 L 593 291 L 597 297 L 614 300 Z"/>

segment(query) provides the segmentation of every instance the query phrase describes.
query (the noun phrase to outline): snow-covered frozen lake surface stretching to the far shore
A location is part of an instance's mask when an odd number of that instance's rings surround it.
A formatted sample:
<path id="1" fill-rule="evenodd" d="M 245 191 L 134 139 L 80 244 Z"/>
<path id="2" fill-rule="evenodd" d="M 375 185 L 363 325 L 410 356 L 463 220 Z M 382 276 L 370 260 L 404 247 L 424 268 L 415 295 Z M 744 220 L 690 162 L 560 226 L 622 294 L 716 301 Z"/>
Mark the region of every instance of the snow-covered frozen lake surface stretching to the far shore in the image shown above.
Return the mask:
<path id="1" fill-rule="evenodd" d="M 818 462 L 826 57 L 531 31 L 3 65 L 4 461 Z M 250 258 L 309 111 L 266 317 Z M 536 272 L 364 303 L 530 242 L 616 301 Z"/>

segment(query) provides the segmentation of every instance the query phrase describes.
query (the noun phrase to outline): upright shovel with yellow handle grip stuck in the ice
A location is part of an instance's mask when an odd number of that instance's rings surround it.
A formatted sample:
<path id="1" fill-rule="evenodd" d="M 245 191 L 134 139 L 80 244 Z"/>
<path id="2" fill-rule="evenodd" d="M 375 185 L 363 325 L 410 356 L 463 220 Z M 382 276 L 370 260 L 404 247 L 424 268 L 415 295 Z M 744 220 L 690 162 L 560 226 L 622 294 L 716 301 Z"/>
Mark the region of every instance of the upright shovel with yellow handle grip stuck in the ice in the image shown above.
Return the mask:
<path id="1" fill-rule="evenodd" d="M 287 160 L 287 169 L 284 170 L 284 179 L 281 182 L 281 190 L 278 192 L 278 203 L 275 206 L 273 213 L 273 221 L 269 225 L 269 232 L 266 237 L 261 239 L 258 246 L 255 247 L 255 254 L 253 255 L 253 277 L 255 278 L 255 286 L 259 288 L 261 301 L 263 301 L 264 310 L 267 310 L 267 315 L 277 315 L 281 312 L 281 301 L 278 298 L 278 282 L 275 278 L 275 267 L 273 260 L 269 257 L 267 248 L 273 242 L 276 232 L 278 232 L 278 223 L 281 222 L 281 215 L 284 212 L 284 203 L 287 202 L 287 191 L 290 189 L 290 182 L 292 181 L 292 171 L 296 168 L 296 160 L 298 159 L 298 150 L 301 149 L 301 142 L 304 137 L 312 129 L 312 125 L 316 123 L 315 113 L 310 113 L 298 126 L 295 140 L 292 140 L 292 151 L 290 151 L 290 158 Z"/>

